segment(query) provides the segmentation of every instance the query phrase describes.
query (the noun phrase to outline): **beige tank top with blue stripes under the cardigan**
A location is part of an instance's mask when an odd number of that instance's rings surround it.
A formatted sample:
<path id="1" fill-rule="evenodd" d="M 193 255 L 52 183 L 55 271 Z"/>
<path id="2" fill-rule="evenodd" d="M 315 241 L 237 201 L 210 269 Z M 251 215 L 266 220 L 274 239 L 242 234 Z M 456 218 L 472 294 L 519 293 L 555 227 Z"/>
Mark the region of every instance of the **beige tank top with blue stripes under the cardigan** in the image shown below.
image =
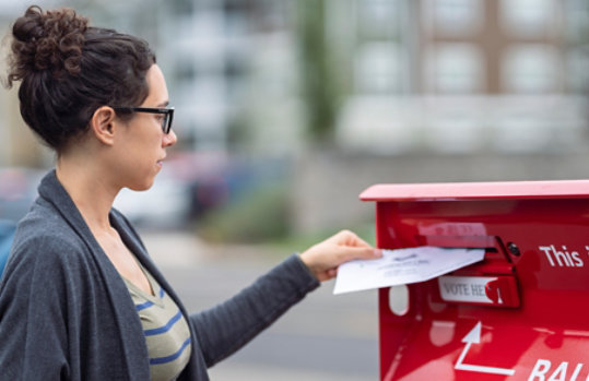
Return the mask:
<path id="1" fill-rule="evenodd" d="M 190 359 L 190 331 L 178 306 L 172 300 L 153 276 L 141 266 L 154 295 L 144 293 L 125 279 L 139 313 L 153 381 L 175 380 Z"/>

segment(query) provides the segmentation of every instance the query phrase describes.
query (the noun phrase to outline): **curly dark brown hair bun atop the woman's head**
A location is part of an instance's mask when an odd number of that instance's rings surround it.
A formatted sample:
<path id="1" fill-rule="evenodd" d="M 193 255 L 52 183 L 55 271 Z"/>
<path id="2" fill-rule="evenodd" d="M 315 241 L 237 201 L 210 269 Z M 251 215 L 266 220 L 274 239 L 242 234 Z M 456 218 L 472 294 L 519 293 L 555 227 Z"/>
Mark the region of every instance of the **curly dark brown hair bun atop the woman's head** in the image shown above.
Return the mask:
<path id="1" fill-rule="evenodd" d="M 72 9 L 44 12 L 30 7 L 12 27 L 9 85 L 32 71 L 50 71 L 56 76 L 80 73 L 87 23 Z"/>

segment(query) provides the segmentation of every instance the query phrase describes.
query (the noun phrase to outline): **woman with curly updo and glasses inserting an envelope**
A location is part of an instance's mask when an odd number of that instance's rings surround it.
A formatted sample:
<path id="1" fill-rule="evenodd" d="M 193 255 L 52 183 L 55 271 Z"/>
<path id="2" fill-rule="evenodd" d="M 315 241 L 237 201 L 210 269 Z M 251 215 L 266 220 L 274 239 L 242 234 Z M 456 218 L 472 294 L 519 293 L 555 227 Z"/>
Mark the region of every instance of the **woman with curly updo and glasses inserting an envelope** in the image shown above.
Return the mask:
<path id="1" fill-rule="evenodd" d="M 31 7 L 12 29 L 9 86 L 57 153 L 0 284 L 2 380 L 207 380 L 339 264 L 380 252 L 350 231 L 294 254 L 234 298 L 189 314 L 111 207 L 149 189 L 176 143 L 148 44 Z M 164 202 L 164 201 L 163 201 Z"/>

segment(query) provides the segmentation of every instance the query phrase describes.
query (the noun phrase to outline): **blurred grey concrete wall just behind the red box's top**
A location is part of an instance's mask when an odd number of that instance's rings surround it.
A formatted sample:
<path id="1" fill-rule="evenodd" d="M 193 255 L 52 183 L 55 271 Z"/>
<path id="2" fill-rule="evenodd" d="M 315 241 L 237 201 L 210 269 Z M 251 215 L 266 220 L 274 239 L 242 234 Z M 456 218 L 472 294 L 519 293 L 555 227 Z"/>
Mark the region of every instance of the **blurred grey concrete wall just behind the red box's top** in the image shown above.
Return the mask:
<path id="1" fill-rule="evenodd" d="M 563 180 L 589 178 L 589 152 L 546 154 L 307 154 L 293 174 L 293 225 L 298 233 L 354 226 L 374 218 L 358 194 L 375 183 Z"/>

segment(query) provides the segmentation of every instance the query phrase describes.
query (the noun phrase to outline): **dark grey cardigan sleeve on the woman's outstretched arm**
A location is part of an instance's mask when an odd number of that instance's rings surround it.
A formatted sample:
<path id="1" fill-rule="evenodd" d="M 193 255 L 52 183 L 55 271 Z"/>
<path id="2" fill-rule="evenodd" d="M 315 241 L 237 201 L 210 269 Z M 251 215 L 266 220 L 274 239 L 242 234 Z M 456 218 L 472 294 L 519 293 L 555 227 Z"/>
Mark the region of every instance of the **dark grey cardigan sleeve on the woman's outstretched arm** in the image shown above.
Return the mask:
<path id="1" fill-rule="evenodd" d="M 243 347 L 318 286 L 293 254 L 233 298 L 191 315 L 207 366 Z"/>

